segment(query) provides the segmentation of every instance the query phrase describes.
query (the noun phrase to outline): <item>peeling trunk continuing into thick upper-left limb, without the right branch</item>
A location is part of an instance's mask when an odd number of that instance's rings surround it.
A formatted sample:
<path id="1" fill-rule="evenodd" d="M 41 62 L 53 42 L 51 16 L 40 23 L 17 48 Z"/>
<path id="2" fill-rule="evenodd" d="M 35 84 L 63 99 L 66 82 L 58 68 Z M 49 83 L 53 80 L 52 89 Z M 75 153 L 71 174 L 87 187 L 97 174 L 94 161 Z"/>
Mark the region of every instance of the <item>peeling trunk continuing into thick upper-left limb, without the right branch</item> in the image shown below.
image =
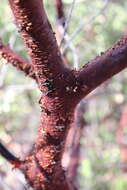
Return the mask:
<path id="1" fill-rule="evenodd" d="M 16 22 L 21 27 L 21 35 L 30 50 L 32 64 L 43 93 L 40 99 L 41 125 L 35 148 L 20 169 L 34 189 L 67 190 L 69 186 L 60 160 L 77 103 L 77 97 L 73 104 L 70 101 L 72 89 L 68 92 L 68 82 L 74 85 L 75 77 L 63 64 L 42 2 L 9 2 Z"/>

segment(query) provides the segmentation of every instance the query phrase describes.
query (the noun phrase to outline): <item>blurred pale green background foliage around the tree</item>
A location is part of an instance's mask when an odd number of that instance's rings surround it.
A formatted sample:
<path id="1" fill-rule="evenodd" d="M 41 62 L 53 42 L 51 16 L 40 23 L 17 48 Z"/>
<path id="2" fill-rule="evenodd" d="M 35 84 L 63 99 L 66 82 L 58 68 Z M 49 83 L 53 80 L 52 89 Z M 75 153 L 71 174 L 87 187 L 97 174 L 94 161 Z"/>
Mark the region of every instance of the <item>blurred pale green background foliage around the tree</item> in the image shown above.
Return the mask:
<path id="1" fill-rule="evenodd" d="M 63 2 L 68 17 L 72 0 Z M 83 24 L 81 31 L 71 41 L 79 60 L 75 64 L 79 68 L 127 33 L 127 1 L 109 0 L 101 12 L 104 5 L 103 0 L 77 0 L 75 3 L 68 24 L 68 36 L 71 37 Z M 53 29 L 56 30 L 53 1 L 45 0 L 45 6 Z M 91 20 L 92 17 L 96 18 Z M 0 5 L 0 38 L 30 61 L 6 0 Z M 70 64 L 76 67 L 72 50 L 66 50 Z M 127 189 L 127 155 L 121 155 L 121 146 L 118 144 L 120 120 L 127 106 L 126 80 L 127 72 L 122 71 L 85 100 L 87 111 L 84 117 L 88 125 L 84 127 L 81 139 L 81 162 L 78 169 L 81 190 Z M 0 59 L 0 139 L 21 158 L 30 150 L 39 126 L 39 96 L 37 85 L 32 79 L 7 64 L 6 60 Z M 125 125 L 127 126 L 126 122 Z M 122 139 L 125 149 L 126 126 Z M 2 157 L 0 179 L 1 190 L 25 189 L 25 181 L 20 172 L 12 172 L 10 164 Z"/>

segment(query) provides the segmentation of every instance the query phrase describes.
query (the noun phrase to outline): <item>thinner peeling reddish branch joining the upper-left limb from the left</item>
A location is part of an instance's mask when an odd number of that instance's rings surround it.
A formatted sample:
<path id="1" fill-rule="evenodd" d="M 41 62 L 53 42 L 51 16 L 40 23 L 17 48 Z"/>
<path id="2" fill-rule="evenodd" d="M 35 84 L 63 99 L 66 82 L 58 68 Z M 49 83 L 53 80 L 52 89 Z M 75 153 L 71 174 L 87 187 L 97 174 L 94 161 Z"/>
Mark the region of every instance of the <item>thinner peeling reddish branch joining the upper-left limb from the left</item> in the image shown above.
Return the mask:
<path id="1" fill-rule="evenodd" d="M 17 53 L 12 51 L 8 45 L 4 45 L 1 41 L 0 55 L 18 70 L 23 71 L 25 75 L 37 80 L 35 73 L 33 72 L 33 66 L 25 61 L 23 58 L 21 58 Z"/>

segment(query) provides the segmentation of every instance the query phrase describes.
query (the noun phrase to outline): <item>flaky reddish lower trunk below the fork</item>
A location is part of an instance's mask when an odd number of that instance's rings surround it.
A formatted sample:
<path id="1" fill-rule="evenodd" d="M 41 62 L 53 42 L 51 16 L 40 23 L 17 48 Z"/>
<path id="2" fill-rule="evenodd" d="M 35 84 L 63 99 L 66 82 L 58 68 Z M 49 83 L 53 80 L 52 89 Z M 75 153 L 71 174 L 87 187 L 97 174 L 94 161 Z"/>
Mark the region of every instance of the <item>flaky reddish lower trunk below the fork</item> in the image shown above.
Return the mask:
<path id="1" fill-rule="evenodd" d="M 68 190 L 61 157 L 74 117 L 74 106 L 59 97 L 41 99 L 41 125 L 33 152 L 21 164 L 34 189 Z"/>

